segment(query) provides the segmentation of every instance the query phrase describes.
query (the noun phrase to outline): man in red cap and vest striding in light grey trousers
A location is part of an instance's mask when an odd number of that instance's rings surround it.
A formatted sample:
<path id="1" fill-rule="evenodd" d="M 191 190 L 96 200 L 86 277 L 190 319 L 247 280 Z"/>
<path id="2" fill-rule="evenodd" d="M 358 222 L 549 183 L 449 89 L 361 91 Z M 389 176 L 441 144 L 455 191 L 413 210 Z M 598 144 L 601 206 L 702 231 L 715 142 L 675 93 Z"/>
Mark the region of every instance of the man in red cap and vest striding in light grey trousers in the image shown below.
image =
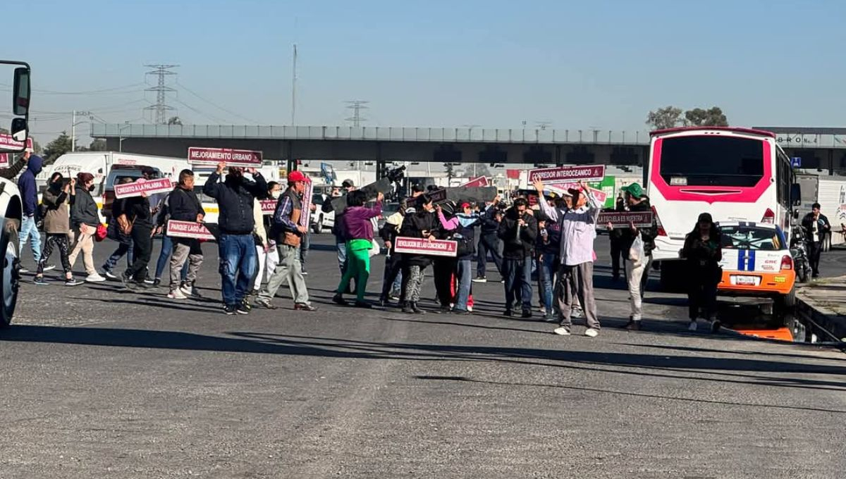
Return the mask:
<path id="1" fill-rule="evenodd" d="M 267 286 L 256 298 L 255 304 L 257 306 L 276 309 L 272 299 L 276 296 L 279 286 L 282 286 L 282 283 L 288 280 L 291 296 L 294 297 L 294 309 L 299 311 L 316 310 L 309 302 L 309 291 L 305 286 L 305 276 L 299 263 L 299 247 L 303 235 L 308 231 L 305 226 L 299 224 L 300 217 L 307 214 L 303 211 L 302 203 L 305 182 L 307 181 L 308 179 L 300 171 L 288 173 L 288 189 L 285 190 L 285 193 L 282 193 L 276 204 L 270 232 L 270 236 L 276 239 L 279 263 L 273 270 L 270 279 L 267 280 Z"/>

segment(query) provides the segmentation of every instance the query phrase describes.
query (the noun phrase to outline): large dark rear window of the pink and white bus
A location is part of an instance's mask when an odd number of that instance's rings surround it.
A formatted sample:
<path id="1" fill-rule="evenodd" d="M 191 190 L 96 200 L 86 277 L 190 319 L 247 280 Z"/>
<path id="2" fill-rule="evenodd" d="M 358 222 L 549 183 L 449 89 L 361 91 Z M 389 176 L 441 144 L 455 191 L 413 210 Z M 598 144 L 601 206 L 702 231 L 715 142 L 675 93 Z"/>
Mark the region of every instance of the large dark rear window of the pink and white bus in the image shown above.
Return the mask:
<path id="1" fill-rule="evenodd" d="M 751 187 L 764 176 L 759 139 L 702 135 L 666 138 L 661 177 L 672 186 Z"/>

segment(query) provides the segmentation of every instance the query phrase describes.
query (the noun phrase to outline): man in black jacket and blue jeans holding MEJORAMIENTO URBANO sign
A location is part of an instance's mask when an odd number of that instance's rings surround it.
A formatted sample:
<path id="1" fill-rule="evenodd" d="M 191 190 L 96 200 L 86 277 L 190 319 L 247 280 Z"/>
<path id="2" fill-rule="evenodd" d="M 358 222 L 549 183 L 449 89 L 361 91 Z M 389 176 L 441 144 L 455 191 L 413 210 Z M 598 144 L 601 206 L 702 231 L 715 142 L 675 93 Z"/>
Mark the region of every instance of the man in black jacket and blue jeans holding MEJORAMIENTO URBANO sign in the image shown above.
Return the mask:
<path id="1" fill-rule="evenodd" d="M 255 181 L 244 178 L 244 169 L 237 166 L 231 166 L 226 180 L 219 182 L 225 167 L 226 163 L 217 164 L 217 170 L 206 180 L 203 193 L 217 199 L 220 208 L 217 251 L 224 312 L 249 314 L 251 307 L 244 297 L 258 263 L 253 239 L 253 202 L 266 197 L 267 182 L 255 168 L 247 169 Z"/>

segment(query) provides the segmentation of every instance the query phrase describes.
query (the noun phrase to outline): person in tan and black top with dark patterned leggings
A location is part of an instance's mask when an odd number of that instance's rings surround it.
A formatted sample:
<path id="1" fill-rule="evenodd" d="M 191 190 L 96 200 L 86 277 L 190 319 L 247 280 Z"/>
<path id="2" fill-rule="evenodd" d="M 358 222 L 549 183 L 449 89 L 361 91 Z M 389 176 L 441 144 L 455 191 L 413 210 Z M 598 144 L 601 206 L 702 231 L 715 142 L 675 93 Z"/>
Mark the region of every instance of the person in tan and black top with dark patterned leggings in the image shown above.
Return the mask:
<path id="1" fill-rule="evenodd" d="M 38 262 L 38 269 L 36 270 L 36 279 L 34 281 L 36 285 L 48 284 L 44 280 L 44 264 L 47 264 L 47 260 L 50 259 L 53 248 L 58 248 L 59 257 L 62 260 L 64 285 L 77 286 L 82 284 L 81 281 L 74 280 L 74 274 L 71 272 L 68 261 L 68 253 L 70 253 L 68 241 L 68 231 L 70 231 L 68 203 L 70 189 L 74 188 L 74 183 L 73 179 L 67 183 L 63 182 L 62 173 L 55 172 L 50 177 L 50 182 L 47 183 L 47 190 L 41 196 L 41 204 L 45 209 L 44 233 L 47 237 L 44 241 L 44 249 L 41 251 L 41 261 Z"/>

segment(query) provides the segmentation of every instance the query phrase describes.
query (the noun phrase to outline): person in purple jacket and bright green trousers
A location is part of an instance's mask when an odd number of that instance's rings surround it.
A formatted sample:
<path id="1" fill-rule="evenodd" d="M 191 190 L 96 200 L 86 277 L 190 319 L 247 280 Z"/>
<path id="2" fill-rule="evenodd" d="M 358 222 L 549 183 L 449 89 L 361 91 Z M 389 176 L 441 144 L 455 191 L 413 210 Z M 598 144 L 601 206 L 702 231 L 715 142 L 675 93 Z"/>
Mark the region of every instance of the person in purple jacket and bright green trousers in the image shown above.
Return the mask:
<path id="1" fill-rule="evenodd" d="M 349 281 L 355 278 L 355 306 L 356 308 L 371 308 L 365 302 L 367 278 L 370 276 L 370 252 L 373 248 L 373 218 L 382 214 L 382 193 L 376 198 L 372 208 L 365 207 L 366 193 L 355 190 L 347 193 L 347 208 L 343 210 L 342 225 L 344 237 L 347 238 L 347 269 L 343 272 L 341 284 L 332 301 L 345 305 L 343 291 L 347 290 Z"/>

